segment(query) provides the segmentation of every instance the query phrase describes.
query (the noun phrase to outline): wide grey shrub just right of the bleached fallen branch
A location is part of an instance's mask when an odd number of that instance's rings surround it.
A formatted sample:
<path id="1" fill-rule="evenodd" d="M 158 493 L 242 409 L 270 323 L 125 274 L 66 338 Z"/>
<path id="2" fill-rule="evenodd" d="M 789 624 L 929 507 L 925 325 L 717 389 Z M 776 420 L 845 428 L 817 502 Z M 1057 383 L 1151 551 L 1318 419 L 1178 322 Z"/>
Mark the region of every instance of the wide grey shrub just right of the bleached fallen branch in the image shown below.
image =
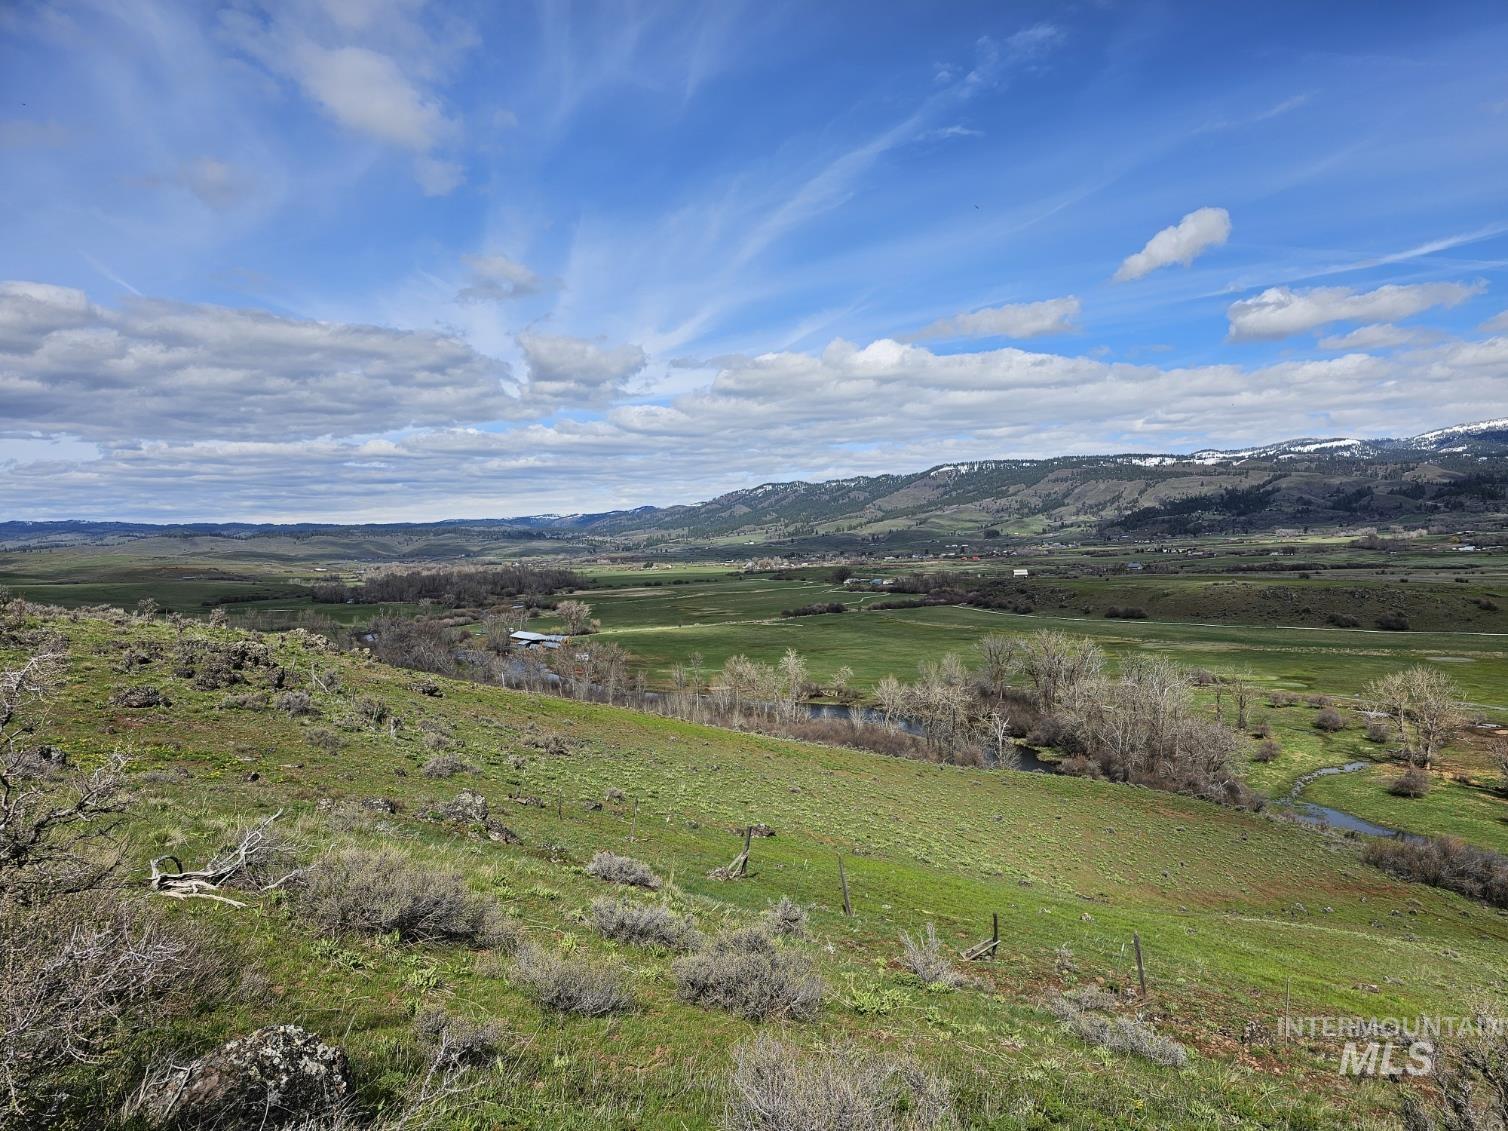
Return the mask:
<path id="1" fill-rule="evenodd" d="M 522 932 L 460 872 L 421 867 L 392 849 L 341 849 L 315 861 L 294 911 L 329 933 L 397 933 L 404 942 L 470 942 L 514 950 Z"/>

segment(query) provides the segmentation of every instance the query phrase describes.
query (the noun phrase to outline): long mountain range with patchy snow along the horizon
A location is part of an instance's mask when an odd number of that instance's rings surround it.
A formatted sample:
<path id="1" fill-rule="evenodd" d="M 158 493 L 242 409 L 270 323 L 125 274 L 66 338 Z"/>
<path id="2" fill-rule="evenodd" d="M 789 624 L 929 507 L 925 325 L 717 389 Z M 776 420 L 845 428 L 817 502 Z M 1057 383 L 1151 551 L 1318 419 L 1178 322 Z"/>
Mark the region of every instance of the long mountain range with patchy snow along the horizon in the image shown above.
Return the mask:
<path id="1" fill-rule="evenodd" d="M 1508 526 L 1508 418 L 1405 439 L 1303 437 L 1188 454 L 949 463 L 905 475 L 763 483 L 706 502 L 436 523 L 0 522 L 0 546 L 163 534 L 256 538 L 472 528 L 623 549 L 656 544 L 933 544 L 1000 535 L 1170 537 L 1356 525 Z"/>

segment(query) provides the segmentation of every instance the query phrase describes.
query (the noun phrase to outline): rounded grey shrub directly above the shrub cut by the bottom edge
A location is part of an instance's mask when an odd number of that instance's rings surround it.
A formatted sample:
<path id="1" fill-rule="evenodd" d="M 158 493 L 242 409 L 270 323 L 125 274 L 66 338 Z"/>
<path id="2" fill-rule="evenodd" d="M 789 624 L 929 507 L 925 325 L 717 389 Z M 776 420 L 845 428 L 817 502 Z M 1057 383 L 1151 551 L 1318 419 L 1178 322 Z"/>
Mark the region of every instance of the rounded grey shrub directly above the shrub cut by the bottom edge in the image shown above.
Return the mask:
<path id="1" fill-rule="evenodd" d="M 749 1021 L 805 1021 L 822 1004 L 823 985 L 802 956 L 775 946 L 762 930 L 734 930 L 671 971 L 683 1001 L 725 1009 Z"/>

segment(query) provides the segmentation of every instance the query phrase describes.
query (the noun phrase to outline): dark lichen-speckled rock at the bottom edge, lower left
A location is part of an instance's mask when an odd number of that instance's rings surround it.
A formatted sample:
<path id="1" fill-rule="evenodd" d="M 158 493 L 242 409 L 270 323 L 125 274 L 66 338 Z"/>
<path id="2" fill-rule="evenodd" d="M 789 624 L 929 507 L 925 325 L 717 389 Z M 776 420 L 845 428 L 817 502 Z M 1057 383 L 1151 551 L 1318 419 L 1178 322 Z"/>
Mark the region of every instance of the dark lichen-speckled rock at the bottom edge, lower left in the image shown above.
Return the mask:
<path id="1" fill-rule="evenodd" d="M 172 1069 L 133 1114 L 154 1128 L 271 1131 L 333 1114 L 351 1090 L 342 1050 L 299 1025 L 268 1025 Z"/>

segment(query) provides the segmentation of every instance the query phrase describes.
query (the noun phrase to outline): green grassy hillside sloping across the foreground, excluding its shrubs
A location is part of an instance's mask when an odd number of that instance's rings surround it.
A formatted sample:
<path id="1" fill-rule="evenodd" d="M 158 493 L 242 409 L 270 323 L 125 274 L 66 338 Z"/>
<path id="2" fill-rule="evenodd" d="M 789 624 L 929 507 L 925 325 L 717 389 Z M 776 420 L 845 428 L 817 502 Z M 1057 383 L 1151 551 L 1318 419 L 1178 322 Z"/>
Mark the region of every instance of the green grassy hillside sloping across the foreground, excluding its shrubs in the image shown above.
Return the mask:
<path id="1" fill-rule="evenodd" d="M 1323 1041 L 1273 1036 L 1288 995 L 1306 1015 L 1460 1013 L 1502 1000 L 1502 917 L 1398 884 L 1359 863 L 1351 841 L 1262 816 L 469 683 L 424 688 L 412 673 L 302 635 L 267 638 L 271 662 L 311 695 L 312 713 L 300 716 L 255 700 L 231 706 L 228 695 L 256 691 L 261 671 L 246 686 L 198 691 L 175 674 L 176 633 L 163 623 L 30 612 L 0 636 L 0 659 L 14 662 L 44 629 L 66 639 L 69 665 L 38 734 L 83 765 L 130 754 L 131 876 L 163 852 L 204 860 L 238 823 L 282 810 L 306 855 L 354 841 L 460 869 L 535 944 L 621 968 L 638 1003 L 606 1019 L 550 1013 L 519 991 L 502 956 L 321 938 L 279 893 L 244 909 L 169 903 L 167 914 L 225 938 L 252 973 L 192 1021 L 128 1044 L 130 1056 L 92 1074 L 87 1087 L 101 1095 L 164 1042 L 195 1053 L 256 1024 L 299 1021 L 350 1051 L 366 1105 L 392 1104 L 419 1071 L 412 1018 L 439 1003 L 507 1033 L 501 1062 L 440 1125 L 715 1126 L 731 1050 L 760 1027 L 679 1001 L 670 955 L 605 942 L 582 921 L 605 890 L 582 870 L 599 849 L 650 864 L 667 887 L 641 899 L 691 914 L 706 933 L 749 924 L 781 896 L 805 905 L 810 938 L 793 946 L 828 992 L 813 1021 L 781 1034 L 908 1050 L 952 1081 L 974 1126 L 1389 1126 L 1395 1086 L 1336 1075 L 1336 1050 Z M 235 638 L 204 626 L 185 633 Z M 125 674 L 128 650 L 146 662 Z M 172 706 L 112 704 L 143 685 Z M 362 722 L 363 701 L 395 712 L 397 733 Z M 437 751 L 475 772 L 427 778 L 421 768 Z M 463 787 L 486 795 L 520 843 L 424 819 Z M 397 811 L 362 804 L 371 798 Z M 752 875 L 709 879 L 749 822 L 775 831 L 754 841 Z M 841 912 L 838 855 L 852 918 Z M 930 921 L 962 947 L 988 932 L 991 912 L 1003 944 L 998 961 L 974 964 L 979 988 L 932 991 L 900 970 L 902 930 Z M 1133 932 L 1152 994 L 1120 1009 L 1188 1045 L 1184 1069 L 1087 1045 L 1045 1009 L 1054 988 L 1128 988 Z"/>

